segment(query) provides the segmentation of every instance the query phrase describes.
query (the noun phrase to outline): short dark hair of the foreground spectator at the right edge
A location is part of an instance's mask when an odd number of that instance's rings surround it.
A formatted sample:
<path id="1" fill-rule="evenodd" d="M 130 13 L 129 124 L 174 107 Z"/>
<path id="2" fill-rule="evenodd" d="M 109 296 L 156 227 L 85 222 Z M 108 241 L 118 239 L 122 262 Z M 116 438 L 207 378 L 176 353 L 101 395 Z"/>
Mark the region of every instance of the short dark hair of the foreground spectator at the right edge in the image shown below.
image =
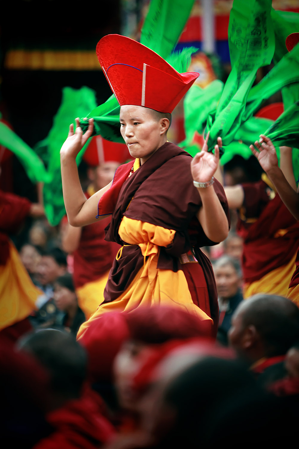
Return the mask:
<path id="1" fill-rule="evenodd" d="M 290 299 L 258 293 L 239 307 L 243 327 L 255 326 L 267 357 L 286 354 L 299 341 L 299 308 Z"/>

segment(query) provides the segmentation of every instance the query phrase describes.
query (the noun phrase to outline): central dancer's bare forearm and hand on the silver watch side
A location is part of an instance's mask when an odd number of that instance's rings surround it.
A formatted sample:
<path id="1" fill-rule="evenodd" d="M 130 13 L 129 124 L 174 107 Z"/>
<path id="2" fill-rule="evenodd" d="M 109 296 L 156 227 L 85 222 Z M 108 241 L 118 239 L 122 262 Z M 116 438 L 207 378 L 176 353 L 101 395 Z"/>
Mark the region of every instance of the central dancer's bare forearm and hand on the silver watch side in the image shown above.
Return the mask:
<path id="1" fill-rule="evenodd" d="M 200 153 L 196 154 L 191 161 L 191 174 L 193 180 L 197 182 L 208 182 L 212 180 L 219 165 L 219 145 L 222 145 L 221 138 L 218 137 L 218 145 L 215 146 L 215 154 L 208 152 L 209 133 L 204 141 Z M 197 213 L 197 219 L 201 224 L 206 236 L 213 242 L 222 242 L 228 236 L 229 223 L 225 211 L 214 190 L 210 185 L 206 188 L 197 188 L 202 207 Z"/>

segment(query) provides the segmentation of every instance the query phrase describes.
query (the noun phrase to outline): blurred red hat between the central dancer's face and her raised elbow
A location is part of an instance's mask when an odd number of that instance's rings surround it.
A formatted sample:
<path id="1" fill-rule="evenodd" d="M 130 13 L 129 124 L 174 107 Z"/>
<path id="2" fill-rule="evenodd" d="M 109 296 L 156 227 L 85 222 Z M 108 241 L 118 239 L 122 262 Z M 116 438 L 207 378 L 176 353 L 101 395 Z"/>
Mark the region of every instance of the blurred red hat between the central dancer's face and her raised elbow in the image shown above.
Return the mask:
<path id="1" fill-rule="evenodd" d="M 110 142 L 103 139 L 102 136 L 92 137 L 83 155 L 84 162 L 92 167 L 112 161 L 122 164 L 131 159 L 125 143 Z"/>

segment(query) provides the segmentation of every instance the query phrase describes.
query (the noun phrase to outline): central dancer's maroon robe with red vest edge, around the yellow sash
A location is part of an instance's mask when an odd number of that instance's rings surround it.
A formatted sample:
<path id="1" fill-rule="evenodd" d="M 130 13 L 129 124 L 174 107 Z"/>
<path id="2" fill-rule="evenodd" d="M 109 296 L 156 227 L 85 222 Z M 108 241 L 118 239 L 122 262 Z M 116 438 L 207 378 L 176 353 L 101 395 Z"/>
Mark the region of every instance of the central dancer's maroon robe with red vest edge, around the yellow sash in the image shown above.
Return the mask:
<path id="1" fill-rule="evenodd" d="M 201 198 L 193 185 L 191 176 L 191 155 L 170 142 L 162 145 L 156 153 L 128 177 L 132 163 L 119 167 L 113 185 L 99 202 L 99 215 L 115 207 L 111 223 L 106 228 L 106 240 L 122 242 L 118 229 L 123 216 L 151 223 L 176 231 L 173 242 L 168 247 L 160 247 L 158 269 L 177 272 L 182 269 L 190 292 L 196 287 L 196 278 L 203 278 L 208 288 L 208 313 L 218 322 L 218 303 L 212 264 L 200 251 L 200 247 L 215 245 L 204 234 L 196 219 L 201 207 Z M 215 180 L 214 189 L 221 201 L 228 220 L 229 209 L 224 189 Z M 133 200 L 132 200 L 133 199 Z M 129 206 L 130 204 L 130 206 Z M 129 207 L 128 207 L 129 206 Z M 199 264 L 181 264 L 179 256 L 193 251 Z M 133 281 L 143 265 L 143 255 L 138 245 L 123 247 L 119 260 L 114 260 L 104 291 L 104 302 L 117 299 Z M 192 265 L 192 269 L 188 267 Z M 193 296 L 193 295 L 192 295 Z M 192 298 L 193 299 L 193 298 Z"/>

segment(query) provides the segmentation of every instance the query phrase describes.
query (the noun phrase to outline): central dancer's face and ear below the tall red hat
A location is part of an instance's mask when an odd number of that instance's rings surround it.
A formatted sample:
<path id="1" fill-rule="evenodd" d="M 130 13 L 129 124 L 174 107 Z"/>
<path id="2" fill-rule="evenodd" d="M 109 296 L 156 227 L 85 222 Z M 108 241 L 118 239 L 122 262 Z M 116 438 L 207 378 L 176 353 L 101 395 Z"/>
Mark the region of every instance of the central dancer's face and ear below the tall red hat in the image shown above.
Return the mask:
<path id="1" fill-rule="evenodd" d="M 165 119 L 157 120 L 150 109 L 143 106 L 121 106 L 121 135 L 130 155 L 147 161 L 165 143 Z M 168 128 L 166 123 L 166 129 Z"/>

